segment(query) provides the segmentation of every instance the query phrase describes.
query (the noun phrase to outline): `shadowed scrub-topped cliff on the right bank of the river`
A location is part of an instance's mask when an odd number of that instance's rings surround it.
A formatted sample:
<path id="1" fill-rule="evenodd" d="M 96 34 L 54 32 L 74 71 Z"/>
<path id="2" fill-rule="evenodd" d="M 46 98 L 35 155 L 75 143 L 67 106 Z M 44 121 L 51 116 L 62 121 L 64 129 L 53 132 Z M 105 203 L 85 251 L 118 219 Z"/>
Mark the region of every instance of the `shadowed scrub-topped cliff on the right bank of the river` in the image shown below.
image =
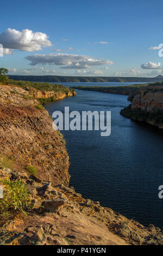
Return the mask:
<path id="1" fill-rule="evenodd" d="M 131 105 L 122 109 L 124 117 L 163 128 L 163 87 L 147 86 L 135 95 L 130 95 Z"/>

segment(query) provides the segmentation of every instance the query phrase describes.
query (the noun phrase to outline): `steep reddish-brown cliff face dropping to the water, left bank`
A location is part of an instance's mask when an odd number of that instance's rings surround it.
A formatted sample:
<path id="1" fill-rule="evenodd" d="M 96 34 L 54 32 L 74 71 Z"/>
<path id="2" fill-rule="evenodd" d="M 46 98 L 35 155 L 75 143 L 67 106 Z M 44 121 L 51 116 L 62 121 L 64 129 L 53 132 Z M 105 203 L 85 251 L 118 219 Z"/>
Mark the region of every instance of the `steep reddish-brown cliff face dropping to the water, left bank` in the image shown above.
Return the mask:
<path id="1" fill-rule="evenodd" d="M 69 161 L 64 141 L 52 129 L 48 112 L 38 109 L 39 102 L 31 95 L 22 88 L 0 86 L 1 154 L 14 157 L 18 170 L 33 165 L 38 169 L 38 178 L 43 176 L 53 184 L 68 185 Z"/>

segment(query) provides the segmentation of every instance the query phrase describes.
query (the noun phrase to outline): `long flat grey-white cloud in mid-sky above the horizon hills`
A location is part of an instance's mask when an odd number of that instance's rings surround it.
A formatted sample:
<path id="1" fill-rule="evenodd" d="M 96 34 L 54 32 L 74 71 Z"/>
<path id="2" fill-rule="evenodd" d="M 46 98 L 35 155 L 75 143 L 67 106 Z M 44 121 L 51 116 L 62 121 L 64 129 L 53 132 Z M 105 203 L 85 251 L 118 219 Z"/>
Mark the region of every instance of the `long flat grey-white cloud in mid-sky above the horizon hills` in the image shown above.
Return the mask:
<path id="1" fill-rule="evenodd" d="M 26 59 L 30 60 L 30 65 L 54 64 L 61 65 L 61 69 L 89 69 L 91 66 L 113 64 L 111 60 L 101 60 L 90 56 L 67 53 L 34 54 L 27 56 Z"/>

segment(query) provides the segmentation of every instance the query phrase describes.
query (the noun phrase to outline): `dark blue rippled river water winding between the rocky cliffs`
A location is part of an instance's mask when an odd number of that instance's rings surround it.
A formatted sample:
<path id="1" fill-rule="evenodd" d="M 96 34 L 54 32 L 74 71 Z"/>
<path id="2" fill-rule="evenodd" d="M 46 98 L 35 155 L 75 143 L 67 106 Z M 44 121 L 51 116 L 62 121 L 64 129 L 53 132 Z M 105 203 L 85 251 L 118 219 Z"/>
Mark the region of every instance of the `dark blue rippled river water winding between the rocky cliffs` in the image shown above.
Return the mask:
<path id="1" fill-rule="evenodd" d="M 74 86 L 78 83 L 62 83 Z M 79 83 L 99 85 L 100 83 Z M 106 85 L 131 83 L 101 83 Z M 45 107 L 52 114 L 69 106 L 70 111 L 111 111 L 111 135 L 100 131 L 63 131 L 70 156 L 70 186 L 83 197 L 98 200 L 128 218 L 144 225 L 163 226 L 163 199 L 158 187 L 163 184 L 163 132 L 135 123 L 120 115 L 127 106 L 126 95 L 77 90 Z"/>

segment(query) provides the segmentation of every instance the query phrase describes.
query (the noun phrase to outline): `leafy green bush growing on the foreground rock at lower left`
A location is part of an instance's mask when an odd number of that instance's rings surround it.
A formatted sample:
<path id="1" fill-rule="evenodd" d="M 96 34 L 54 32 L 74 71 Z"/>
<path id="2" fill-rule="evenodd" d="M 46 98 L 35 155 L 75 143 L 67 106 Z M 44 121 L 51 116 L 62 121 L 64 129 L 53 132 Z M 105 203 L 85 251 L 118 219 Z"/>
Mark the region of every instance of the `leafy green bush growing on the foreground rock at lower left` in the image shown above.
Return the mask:
<path id="1" fill-rule="evenodd" d="M 0 221 L 13 217 L 18 211 L 24 212 L 27 208 L 29 194 L 24 184 L 19 181 L 1 180 L 4 185 L 3 199 L 0 199 Z"/>

